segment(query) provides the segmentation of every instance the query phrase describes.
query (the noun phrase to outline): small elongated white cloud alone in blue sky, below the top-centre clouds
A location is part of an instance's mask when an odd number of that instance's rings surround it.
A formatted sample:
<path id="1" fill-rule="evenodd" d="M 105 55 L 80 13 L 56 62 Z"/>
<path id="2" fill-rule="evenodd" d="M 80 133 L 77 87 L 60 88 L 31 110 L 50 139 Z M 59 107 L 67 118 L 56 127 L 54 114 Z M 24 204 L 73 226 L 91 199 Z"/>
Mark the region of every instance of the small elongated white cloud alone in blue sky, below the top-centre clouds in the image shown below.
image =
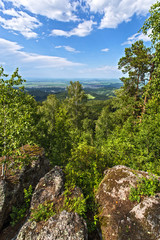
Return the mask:
<path id="1" fill-rule="evenodd" d="M 96 22 L 93 22 L 92 20 L 84 21 L 83 23 L 79 23 L 77 28 L 74 28 L 71 31 L 53 29 L 51 35 L 65 36 L 65 37 L 71 37 L 71 36 L 85 37 L 90 34 L 90 32 L 93 30 L 93 25 L 95 24 Z"/>

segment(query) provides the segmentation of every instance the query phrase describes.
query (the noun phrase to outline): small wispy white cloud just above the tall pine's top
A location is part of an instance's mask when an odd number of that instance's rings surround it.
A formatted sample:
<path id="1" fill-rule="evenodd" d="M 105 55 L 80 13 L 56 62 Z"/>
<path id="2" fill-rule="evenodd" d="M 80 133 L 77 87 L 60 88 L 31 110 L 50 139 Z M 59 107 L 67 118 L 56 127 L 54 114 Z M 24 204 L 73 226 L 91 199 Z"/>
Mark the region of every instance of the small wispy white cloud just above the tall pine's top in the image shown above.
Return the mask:
<path id="1" fill-rule="evenodd" d="M 127 41 L 124 42 L 122 45 L 133 44 L 133 43 L 135 43 L 136 41 L 139 41 L 139 40 L 143 40 L 144 42 L 149 42 L 149 41 L 151 41 L 151 39 L 149 37 L 150 34 L 151 34 L 151 30 L 149 30 L 147 32 L 147 35 L 145 35 L 143 33 L 135 33 L 134 35 L 129 37 L 127 39 Z"/>

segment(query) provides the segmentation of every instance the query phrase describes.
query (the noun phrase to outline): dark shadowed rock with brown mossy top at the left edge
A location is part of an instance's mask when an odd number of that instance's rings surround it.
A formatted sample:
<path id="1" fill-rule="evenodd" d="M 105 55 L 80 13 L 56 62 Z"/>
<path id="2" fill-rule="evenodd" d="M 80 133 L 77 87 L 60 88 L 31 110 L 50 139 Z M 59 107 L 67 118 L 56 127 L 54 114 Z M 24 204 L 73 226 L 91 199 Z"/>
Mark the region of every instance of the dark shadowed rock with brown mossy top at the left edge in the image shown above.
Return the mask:
<path id="1" fill-rule="evenodd" d="M 0 230 L 8 221 L 12 206 L 20 206 L 23 203 L 23 190 L 28 189 L 30 185 L 34 189 L 39 179 L 49 171 L 49 161 L 44 156 L 44 150 L 36 146 L 24 146 L 25 160 L 28 164 L 21 169 L 14 169 L 14 172 L 8 169 L 6 179 L 0 179 Z M 12 165 L 15 164 L 15 159 Z"/>

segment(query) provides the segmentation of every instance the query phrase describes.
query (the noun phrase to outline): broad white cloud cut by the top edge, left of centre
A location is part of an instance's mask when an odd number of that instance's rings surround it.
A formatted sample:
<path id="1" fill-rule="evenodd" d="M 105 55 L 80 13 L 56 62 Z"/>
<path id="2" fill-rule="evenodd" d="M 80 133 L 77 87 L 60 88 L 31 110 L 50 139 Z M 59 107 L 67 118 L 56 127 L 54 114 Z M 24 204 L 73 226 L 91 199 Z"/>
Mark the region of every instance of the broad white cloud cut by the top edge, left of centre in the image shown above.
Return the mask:
<path id="1" fill-rule="evenodd" d="M 71 4 L 69 0 L 4 0 L 10 1 L 16 7 L 23 6 L 26 10 L 34 14 L 40 14 L 50 19 L 59 21 L 76 21 L 77 17 L 73 11 L 75 4 Z"/>

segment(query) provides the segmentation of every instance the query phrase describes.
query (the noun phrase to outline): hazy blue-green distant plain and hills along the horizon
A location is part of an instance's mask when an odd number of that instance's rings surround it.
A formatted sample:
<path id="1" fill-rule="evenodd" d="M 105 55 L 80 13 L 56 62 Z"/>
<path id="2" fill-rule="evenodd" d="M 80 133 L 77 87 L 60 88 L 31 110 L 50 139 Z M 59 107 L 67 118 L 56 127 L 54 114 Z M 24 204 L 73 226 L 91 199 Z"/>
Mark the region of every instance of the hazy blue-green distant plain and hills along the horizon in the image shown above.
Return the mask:
<path id="1" fill-rule="evenodd" d="M 29 82 L 28 84 L 25 84 L 26 91 L 34 96 L 36 101 L 44 101 L 47 99 L 47 96 L 49 94 L 55 94 L 56 98 L 59 100 L 64 100 L 67 97 L 67 90 L 66 87 L 69 85 L 68 81 L 67 83 L 63 81 L 57 83 L 57 80 L 53 79 L 52 82 Z M 82 86 L 83 90 L 87 94 L 88 100 L 106 100 L 109 99 L 112 96 L 115 96 L 115 90 L 120 88 L 122 86 L 122 83 L 118 80 L 100 80 L 100 79 L 93 79 L 93 82 L 89 80 L 88 84 L 86 83 L 86 80 L 80 80 L 79 81 Z M 66 85 L 67 84 L 67 85 Z M 61 86 L 62 85 L 62 86 Z"/>

